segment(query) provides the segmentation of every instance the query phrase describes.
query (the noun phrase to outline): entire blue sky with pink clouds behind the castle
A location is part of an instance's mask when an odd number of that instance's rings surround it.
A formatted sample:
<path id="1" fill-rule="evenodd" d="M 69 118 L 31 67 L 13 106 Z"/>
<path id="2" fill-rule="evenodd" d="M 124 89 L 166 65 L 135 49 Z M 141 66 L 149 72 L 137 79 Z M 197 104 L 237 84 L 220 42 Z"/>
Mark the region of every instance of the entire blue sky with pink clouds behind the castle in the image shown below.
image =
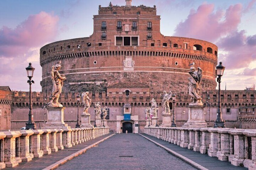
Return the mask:
<path id="1" fill-rule="evenodd" d="M 51 42 L 89 37 L 93 15 L 109 0 L 2 0 L 0 86 L 29 91 L 25 68 L 35 68 L 32 91 L 41 91 L 40 48 Z M 111 0 L 125 5 L 125 0 Z M 221 89 L 244 90 L 256 82 L 256 0 L 132 0 L 156 5 L 165 36 L 202 39 L 218 46 L 225 66 Z"/>

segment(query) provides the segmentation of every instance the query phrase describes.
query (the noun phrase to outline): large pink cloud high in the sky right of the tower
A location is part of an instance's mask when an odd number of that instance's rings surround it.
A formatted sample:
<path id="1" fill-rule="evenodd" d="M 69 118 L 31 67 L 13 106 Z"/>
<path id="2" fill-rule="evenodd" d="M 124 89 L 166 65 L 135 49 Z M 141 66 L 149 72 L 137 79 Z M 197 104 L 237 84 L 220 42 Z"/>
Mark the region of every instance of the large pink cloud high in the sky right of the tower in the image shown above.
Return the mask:
<path id="1" fill-rule="evenodd" d="M 213 4 L 202 4 L 196 11 L 191 10 L 188 18 L 177 25 L 174 35 L 213 42 L 236 30 L 241 14 L 241 4 L 230 6 L 226 12 L 214 12 Z"/>

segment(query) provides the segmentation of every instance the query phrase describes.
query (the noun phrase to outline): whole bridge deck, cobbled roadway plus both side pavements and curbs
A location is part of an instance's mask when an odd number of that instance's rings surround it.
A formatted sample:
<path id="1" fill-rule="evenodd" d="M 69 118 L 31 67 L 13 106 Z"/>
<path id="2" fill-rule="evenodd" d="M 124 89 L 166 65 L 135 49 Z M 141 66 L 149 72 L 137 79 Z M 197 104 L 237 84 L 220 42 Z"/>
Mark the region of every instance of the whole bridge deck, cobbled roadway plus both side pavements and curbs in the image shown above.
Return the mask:
<path id="1" fill-rule="evenodd" d="M 4 169 L 54 168 L 59 170 L 247 169 L 147 134 L 107 134 L 41 158 L 33 158 L 30 162 L 21 162 L 14 168 Z"/>

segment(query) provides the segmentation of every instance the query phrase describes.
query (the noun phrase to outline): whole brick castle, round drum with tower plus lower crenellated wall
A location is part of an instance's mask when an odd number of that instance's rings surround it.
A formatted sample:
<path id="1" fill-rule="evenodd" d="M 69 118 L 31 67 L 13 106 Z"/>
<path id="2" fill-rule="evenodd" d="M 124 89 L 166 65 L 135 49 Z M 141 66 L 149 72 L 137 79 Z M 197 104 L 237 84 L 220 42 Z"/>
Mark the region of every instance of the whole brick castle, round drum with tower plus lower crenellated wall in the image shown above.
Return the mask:
<path id="1" fill-rule="evenodd" d="M 169 106 L 173 111 L 175 104 L 177 126 L 183 125 L 188 119 L 187 106 L 191 102 L 188 95 L 190 63 L 203 70 L 201 95 L 205 120 L 213 127 L 217 112 L 216 45 L 199 39 L 162 35 L 156 6 L 136 7 L 131 5 L 131 0 L 126 0 L 125 6 L 113 6 L 111 2 L 108 7 L 99 5 L 98 15 L 93 16 L 93 28 L 90 37 L 53 42 L 40 49 L 42 92 L 32 94 L 38 127 L 47 120 L 44 106 L 52 90 L 50 70 L 59 61 L 60 73 L 67 78 L 59 101 L 66 107 L 64 119 L 71 127 L 77 117 L 76 95 L 85 91 L 90 92 L 92 99 L 91 115 L 94 115 L 96 102 L 109 108 L 110 131 L 142 132 L 146 125 L 145 108 L 151 107 L 152 98 L 159 106 L 161 123 L 164 90 L 177 94 L 175 103 L 170 101 Z M 25 125 L 28 96 L 28 92 L 13 93 L 12 104 L 9 104 L 12 129 Z M 254 90 L 221 91 L 227 127 L 255 128 L 254 97 Z"/>

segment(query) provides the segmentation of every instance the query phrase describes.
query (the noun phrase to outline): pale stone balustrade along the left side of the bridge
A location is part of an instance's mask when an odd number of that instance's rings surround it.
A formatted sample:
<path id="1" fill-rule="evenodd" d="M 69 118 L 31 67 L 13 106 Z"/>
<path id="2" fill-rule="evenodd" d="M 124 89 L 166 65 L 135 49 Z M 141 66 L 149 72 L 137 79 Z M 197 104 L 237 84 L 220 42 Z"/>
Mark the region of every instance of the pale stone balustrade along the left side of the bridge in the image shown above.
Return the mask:
<path id="1" fill-rule="evenodd" d="M 108 127 L 0 132 L 0 169 L 109 134 Z"/>

